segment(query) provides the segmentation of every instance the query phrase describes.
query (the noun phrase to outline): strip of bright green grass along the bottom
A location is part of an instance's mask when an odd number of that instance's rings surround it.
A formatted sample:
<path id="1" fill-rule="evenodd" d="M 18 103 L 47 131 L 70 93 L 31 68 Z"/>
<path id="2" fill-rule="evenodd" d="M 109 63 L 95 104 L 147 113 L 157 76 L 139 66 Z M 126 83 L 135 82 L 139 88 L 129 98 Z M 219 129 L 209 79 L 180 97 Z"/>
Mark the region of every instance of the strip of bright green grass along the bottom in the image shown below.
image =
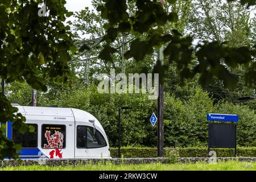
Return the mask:
<path id="1" fill-rule="evenodd" d="M 256 171 L 256 163 L 249 162 L 218 162 L 217 164 L 138 164 L 138 165 L 114 165 L 85 164 L 77 166 L 19 166 L 0 168 L 0 171 Z"/>

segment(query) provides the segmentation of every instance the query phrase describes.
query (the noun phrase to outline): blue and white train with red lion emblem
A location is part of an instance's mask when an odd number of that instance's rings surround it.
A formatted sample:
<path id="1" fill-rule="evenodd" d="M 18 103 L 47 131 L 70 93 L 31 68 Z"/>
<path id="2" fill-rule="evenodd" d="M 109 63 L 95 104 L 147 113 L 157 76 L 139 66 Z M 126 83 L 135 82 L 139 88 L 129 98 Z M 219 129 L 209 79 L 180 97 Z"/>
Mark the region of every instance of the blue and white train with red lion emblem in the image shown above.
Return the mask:
<path id="1" fill-rule="evenodd" d="M 7 122 L 6 137 L 22 144 L 20 159 L 110 158 L 106 133 L 92 114 L 73 108 L 15 107 L 35 127 L 34 133 L 21 134 Z"/>

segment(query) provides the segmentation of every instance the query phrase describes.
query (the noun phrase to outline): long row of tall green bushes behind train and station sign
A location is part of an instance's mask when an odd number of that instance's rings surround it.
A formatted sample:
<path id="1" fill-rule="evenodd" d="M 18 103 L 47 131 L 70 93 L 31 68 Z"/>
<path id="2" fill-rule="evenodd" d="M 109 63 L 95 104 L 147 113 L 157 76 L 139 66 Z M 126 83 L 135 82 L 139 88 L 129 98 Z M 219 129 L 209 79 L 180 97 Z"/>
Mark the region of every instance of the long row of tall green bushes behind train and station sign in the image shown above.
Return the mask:
<path id="1" fill-rule="evenodd" d="M 149 121 L 151 114 L 157 111 L 156 100 L 148 100 L 147 94 L 100 94 L 96 86 L 85 87 L 76 82 L 74 84 L 75 86 L 71 84 L 65 89 L 57 90 L 56 86 L 56 89 L 47 93 L 38 92 L 38 106 L 57 104 L 61 107 L 88 111 L 101 122 L 111 147 L 117 147 L 118 144 L 118 108 L 133 106 L 131 110 L 122 110 L 122 146 L 156 146 L 157 127 L 152 127 Z M 28 105 L 28 98 L 31 97 L 27 95 L 31 94 L 31 89 L 28 89 L 26 84 L 19 83 L 14 87 L 15 92 L 7 92 L 11 102 Z M 254 110 L 249 106 L 230 102 L 214 104 L 207 92 L 201 88 L 192 89 L 183 100 L 168 93 L 164 94 L 165 147 L 207 147 L 206 115 L 208 113 L 238 114 L 240 116 L 237 127 L 238 146 L 256 146 Z"/>

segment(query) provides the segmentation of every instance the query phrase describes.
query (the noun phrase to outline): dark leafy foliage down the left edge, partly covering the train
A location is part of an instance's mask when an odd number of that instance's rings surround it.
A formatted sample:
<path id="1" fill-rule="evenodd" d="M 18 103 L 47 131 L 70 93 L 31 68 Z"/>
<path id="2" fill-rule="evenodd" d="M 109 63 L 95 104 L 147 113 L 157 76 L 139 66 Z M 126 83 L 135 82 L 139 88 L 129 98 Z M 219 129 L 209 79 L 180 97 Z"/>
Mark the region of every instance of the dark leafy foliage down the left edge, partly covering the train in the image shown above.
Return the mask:
<path id="1" fill-rule="evenodd" d="M 27 81 L 34 89 L 46 91 L 46 78 L 67 82 L 71 72 L 68 61 L 75 51 L 72 34 L 63 22 L 71 16 L 64 0 L 44 1 L 47 16 L 38 16 L 39 1 L 3 0 L 0 2 L 0 77 L 6 82 Z M 0 159 L 18 158 L 20 145 L 5 137 L 5 123 L 25 133 L 25 118 L 0 96 Z"/>

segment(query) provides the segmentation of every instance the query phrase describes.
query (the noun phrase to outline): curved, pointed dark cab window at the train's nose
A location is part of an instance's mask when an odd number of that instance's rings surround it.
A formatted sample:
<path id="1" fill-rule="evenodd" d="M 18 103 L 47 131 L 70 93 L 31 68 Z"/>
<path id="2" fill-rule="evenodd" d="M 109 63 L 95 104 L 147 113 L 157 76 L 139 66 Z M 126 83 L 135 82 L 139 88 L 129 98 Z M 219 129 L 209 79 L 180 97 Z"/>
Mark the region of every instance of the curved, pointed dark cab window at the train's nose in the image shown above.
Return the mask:
<path id="1" fill-rule="evenodd" d="M 94 129 L 93 127 L 87 127 L 87 148 L 99 148 L 107 146 L 106 140 L 100 131 Z"/>

